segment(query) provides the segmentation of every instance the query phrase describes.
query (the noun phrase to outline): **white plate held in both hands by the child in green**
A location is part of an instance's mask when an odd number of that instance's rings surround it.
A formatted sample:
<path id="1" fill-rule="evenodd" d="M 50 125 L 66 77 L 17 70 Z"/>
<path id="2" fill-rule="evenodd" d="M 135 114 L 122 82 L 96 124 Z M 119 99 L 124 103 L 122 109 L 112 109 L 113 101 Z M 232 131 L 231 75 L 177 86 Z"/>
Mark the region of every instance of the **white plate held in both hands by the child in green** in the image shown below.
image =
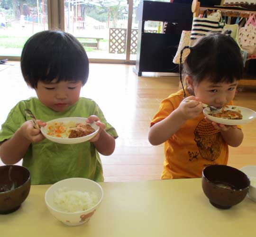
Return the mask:
<path id="1" fill-rule="evenodd" d="M 68 117 L 68 118 L 57 118 L 57 119 L 53 119 L 47 122 L 45 127 L 41 127 L 41 132 L 42 134 L 49 139 L 50 141 L 56 142 L 56 143 L 61 143 L 61 144 L 76 144 L 76 143 L 81 143 L 81 142 L 86 142 L 88 140 L 90 140 L 92 137 L 94 137 L 98 131 L 99 131 L 99 126 L 97 126 L 95 124 L 95 122 L 90 123 L 91 127 L 95 129 L 94 133 L 91 133 L 88 136 L 84 136 L 84 137 L 76 137 L 76 138 L 60 138 L 60 137 L 52 137 L 47 135 L 47 131 L 48 131 L 48 126 L 53 123 L 53 122 L 64 122 L 64 123 L 68 123 L 68 122 L 75 122 L 75 123 L 83 123 L 83 124 L 87 124 L 85 122 L 86 118 L 80 118 L 80 117 Z"/>

